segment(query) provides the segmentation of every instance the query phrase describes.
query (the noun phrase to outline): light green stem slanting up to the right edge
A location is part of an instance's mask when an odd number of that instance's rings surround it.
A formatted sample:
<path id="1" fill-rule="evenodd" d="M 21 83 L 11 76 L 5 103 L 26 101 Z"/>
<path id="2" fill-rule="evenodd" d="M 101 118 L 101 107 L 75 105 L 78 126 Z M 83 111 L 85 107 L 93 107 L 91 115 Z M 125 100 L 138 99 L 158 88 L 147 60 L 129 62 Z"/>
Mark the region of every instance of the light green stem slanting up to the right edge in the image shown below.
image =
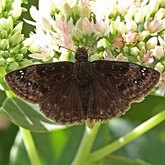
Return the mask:
<path id="1" fill-rule="evenodd" d="M 126 134 L 125 136 L 119 138 L 117 141 L 103 147 L 89 155 L 89 161 L 100 160 L 106 155 L 113 153 L 119 148 L 123 147 L 130 141 L 136 139 L 137 137 L 143 135 L 145 132 L 149 131 L 159 123 L 165 120 L 165 110 L 153 116 L 149 120 L 145 121 L 143 124 L 137 126 L 134 130 Z"/>

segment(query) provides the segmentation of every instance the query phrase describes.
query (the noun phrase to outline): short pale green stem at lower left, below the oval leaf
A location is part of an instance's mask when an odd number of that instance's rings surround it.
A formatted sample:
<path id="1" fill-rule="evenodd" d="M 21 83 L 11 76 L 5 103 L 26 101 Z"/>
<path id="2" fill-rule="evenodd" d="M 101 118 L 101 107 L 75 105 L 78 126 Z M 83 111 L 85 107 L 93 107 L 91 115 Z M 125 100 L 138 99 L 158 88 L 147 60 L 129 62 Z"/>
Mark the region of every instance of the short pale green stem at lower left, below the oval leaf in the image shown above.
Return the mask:
<path id="1" fill-rule="evenodd" d="M 41 165 L 32 135 L 29 130 L 19 127 L 23 142 L 32 165 Z"/>

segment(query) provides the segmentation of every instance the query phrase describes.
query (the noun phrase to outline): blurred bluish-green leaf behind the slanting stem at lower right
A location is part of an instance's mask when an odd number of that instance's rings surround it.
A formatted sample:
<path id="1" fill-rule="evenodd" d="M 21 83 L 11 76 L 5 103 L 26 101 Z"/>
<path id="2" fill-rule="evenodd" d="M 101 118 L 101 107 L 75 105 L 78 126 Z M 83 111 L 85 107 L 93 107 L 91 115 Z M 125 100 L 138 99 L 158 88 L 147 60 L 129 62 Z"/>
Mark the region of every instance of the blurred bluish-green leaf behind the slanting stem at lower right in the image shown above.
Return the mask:
<path id="1" fill-rule="evenodd" d="M 111 121 L 110 129 L 114 138 L 117 139 L 131 131 L 135 125 L 137 125 L 136 122 L 118 118 Z M 139 158 L 151 164 L 161 165 L 162 162 L 165 162 L 165 141 L 161 137 L 162 131 L 160 132 L 162 126 L 164 127 L 165 123 L 158 125 L 143 136 L 128 143 L 116 151 L 115 154 L 133 159 Z"/>

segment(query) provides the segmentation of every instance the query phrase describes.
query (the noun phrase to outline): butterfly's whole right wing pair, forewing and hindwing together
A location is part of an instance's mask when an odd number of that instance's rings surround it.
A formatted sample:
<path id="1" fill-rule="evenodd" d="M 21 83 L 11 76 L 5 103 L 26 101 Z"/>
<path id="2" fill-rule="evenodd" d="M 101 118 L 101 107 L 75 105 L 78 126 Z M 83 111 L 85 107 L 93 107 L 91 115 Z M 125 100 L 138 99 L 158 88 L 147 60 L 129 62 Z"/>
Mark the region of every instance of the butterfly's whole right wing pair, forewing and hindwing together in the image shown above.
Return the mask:
<path id="1" fill-rule="evenodd" d="M 159 72 L 129 62 L 94 61 L 88 118 L 106 120 L 123 114 L 157 84 Z"/>

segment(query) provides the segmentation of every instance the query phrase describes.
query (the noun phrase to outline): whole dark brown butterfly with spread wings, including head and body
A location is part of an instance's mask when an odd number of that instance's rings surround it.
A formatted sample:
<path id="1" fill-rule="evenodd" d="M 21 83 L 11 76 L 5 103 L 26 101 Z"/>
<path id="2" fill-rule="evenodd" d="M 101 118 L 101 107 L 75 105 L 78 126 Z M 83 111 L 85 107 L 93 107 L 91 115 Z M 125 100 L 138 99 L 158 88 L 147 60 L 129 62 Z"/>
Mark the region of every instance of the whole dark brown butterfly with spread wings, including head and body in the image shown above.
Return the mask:
<path id="1" fill-rule="evenodd" d="M 131 62 L 89 62 L 79 48 L 76 62 L 32 65 L 6 75 L 10 88 L 26 101 L 38 103 L 60 124 L 105 121 L 125 113 L 159 81 L 159 72 Z"/>

